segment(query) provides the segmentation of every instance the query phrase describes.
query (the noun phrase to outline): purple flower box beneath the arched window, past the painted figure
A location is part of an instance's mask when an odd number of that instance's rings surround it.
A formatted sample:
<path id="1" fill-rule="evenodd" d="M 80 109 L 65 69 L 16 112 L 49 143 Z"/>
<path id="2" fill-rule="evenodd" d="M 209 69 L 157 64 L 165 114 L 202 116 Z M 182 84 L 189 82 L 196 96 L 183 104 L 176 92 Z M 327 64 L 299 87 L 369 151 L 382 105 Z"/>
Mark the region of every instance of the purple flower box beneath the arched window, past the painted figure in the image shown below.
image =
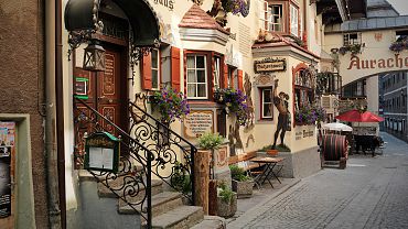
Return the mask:
<path id="1" fill-rule="evenodd" d="M 323 108 L 305 106 L 294 112 L 294 122 L 297 126 L 315 124 L 316 121 L 324 121 L 325 117 Z"/>

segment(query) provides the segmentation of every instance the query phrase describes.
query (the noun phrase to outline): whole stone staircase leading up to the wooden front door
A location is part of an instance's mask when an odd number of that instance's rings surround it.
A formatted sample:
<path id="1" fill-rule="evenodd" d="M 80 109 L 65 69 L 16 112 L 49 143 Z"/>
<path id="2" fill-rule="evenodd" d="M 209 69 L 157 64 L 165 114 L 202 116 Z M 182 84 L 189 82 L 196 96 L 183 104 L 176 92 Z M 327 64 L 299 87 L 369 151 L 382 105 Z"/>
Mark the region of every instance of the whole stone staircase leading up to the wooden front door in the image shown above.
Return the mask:
<path id="1" fill-rule="evenodd" d="M 84 182 L 97 182 L 97 178 L 94 177 L 87 171 L 79 172 L 79 181 Z M 126 220 L 135 221 L 135 218 L 139 221 L 139 226 L 141 228 L 146 228 L 146 220 L 141 216 L 137 216 L 138 212 L 126 204 L 122 199 L 118 198 L 116 194 L 114 194 L 109 188 L 107 188 L 104 184 L 101 184 L 104 179 L 100 179 L 97 183 L 97 193 L 98 198 L 111 198 L 117 199 L 116 206 L 117 207 L 117 215 L 120 216 L 120 220 L 122 220 L 122 225 L 132 225 L 126 222 Z M 115 181 L 109 181 L 109 186 L 114 189 L 116 187 L 121 187 L 124 185 L 125 178 L 119 176 Z M 217 229 L 217 228 L 226 228 L 225 219 L 216 216 L 204 216 L 204 211 L 202 207 L 198 206 L 189 206 L 183 203 L 183 195 L 178 192 L 172 192 L 170 187 L 167 187 L 162 181 L 152 179 L 152 228 L 169 228 L 169 229 L 186 229 L 186 228 L 195 228 L 195 229 Z M 93 192 L 93 190 L 87 190 Z M 139 189 L 140 195 L 137 196 L 127 196 L 127 200 L 129 203 L 140 203 L 144 197 L 144 189 Z M 120 194 L 119 194 L 120 195 Z M 128 195 L 128 194 L 124 194 Z M 86 204 L 86 203 L 84 203 Z M 103 206 L 101 206 L 103 207 Z M 106 206 L 105 206 L 106 207 Z M 136 209 L 141 209 L 140 205 L 137 205 Z M 143 207 L 142 214 L 147 214 L 147 207 Z M 114 216 L 115 217 L 115 216 Z M 133 218 L 135 217 L 135 218 Z M 100 217 L 101 220 L 104 217 Z M 112 217 L 111 217 L 112 218 Z M 101 223 L 104 225 L 104 223 Z M 87 225 L 88 228 L 89 225 Z M 96 228 L 96 227 L 95 227 Z M 120 228 L 122 227 L 120 225 Z M 130 226 L 129 228 L 135 228 Z"/>

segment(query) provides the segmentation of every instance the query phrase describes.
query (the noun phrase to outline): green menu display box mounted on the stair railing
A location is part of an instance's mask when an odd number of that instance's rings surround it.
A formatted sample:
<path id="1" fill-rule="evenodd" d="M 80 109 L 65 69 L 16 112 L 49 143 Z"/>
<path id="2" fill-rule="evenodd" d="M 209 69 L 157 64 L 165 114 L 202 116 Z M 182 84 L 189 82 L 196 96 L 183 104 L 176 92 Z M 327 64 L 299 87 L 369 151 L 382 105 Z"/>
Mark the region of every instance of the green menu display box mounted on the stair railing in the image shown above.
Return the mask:
<path id="1" fill-rule="evenodd" d="M 108 132 L 95 132 L 85 142 L 84 168 L 117 173 L 120 140 Z"/>

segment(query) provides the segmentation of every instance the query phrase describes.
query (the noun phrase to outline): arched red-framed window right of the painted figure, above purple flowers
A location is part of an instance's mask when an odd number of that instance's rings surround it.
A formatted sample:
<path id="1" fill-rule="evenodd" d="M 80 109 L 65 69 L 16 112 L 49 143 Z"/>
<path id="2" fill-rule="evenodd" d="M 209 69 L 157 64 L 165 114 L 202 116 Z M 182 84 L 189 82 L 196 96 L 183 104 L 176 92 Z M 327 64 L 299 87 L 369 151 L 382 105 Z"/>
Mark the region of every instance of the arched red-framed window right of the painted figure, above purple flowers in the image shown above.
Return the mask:
<path id="1" fill-rule="evenodd" d="M 312 74 L 307 69 L 300 69 L 294 73 L 294 109 L 311 106 L 314 102 L 313 97 L 314 80 Z"/>

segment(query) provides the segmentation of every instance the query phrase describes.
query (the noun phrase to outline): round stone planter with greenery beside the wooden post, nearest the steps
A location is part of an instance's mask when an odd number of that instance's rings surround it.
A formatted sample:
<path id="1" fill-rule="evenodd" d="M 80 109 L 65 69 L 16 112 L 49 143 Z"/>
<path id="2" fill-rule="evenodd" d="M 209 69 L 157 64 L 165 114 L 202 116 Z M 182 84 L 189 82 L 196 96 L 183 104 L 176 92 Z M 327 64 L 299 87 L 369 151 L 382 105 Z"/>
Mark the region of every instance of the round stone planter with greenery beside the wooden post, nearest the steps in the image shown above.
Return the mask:
<path id="1" fill-rule="evenodd" d="M 218 216 L 229 218 L 237 211 L 237 194 L 234 193 L 225 183 L 219 183 L 217 187 L 217 212 Z"/>

